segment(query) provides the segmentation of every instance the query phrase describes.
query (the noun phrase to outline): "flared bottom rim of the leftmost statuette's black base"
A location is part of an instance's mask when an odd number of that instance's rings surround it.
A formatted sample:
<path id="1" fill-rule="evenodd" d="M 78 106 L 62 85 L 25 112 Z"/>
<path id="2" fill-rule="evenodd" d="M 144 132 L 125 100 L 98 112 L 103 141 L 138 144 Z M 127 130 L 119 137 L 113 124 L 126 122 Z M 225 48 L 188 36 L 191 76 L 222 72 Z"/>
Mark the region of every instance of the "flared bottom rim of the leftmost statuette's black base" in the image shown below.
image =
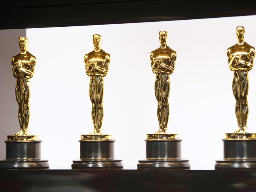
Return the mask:
<path id="1" fill-rule="evenodd" d="M 0 169 L 48 169 L 48 160 L 36 160 L 36 161 L 15 161 L 5 159 L 0 161 Z"/>

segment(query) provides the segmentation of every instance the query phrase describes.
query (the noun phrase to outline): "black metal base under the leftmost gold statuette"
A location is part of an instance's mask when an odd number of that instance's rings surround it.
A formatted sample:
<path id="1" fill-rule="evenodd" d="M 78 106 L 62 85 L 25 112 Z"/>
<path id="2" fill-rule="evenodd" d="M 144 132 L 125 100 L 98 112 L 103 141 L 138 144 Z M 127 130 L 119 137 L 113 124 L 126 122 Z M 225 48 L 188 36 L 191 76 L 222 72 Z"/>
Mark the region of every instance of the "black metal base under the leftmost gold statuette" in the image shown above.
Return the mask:
<path id="1" fill-rule="evenodd" d="M 49 163 L 41 159 L 41 140 L 7 140 L 6 159 L 0 161 L 0 169 L 47 169 Z"/>

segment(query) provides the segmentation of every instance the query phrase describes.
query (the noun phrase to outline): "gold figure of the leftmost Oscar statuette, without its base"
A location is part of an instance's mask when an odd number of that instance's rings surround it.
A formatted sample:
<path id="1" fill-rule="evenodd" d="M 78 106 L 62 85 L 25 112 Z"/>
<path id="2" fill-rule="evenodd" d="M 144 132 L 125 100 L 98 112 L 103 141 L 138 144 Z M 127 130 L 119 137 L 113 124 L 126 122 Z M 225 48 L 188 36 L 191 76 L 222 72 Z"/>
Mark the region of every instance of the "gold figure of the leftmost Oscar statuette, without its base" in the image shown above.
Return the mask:
<path id="1" fill-rule="evenodd" d="M 30 81 L 35 68 L 35 56 L 28 52 L 28 39 L 19 38 L 20 53 L 11 58 L 13 76 L 16 80 L 16 100 L 19 104 L 20 131 L 16 135 L 28 135 Z M 32 136 L 34 137 L 34 136 Z"/>

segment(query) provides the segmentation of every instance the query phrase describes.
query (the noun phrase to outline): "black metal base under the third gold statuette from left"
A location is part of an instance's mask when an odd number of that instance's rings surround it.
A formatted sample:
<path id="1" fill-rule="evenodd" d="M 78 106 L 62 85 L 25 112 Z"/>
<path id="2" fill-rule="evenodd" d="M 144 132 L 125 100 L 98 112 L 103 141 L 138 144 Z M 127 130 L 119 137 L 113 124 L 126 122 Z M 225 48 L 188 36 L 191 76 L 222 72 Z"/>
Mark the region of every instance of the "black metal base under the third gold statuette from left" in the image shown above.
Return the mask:
<path id="1" fill-rule="evenodd" d="M 181 158 L 181 139 L 147 139 L 146 159 L 139 161 L 138 169 L 189 169 L 189 160 Z"/>

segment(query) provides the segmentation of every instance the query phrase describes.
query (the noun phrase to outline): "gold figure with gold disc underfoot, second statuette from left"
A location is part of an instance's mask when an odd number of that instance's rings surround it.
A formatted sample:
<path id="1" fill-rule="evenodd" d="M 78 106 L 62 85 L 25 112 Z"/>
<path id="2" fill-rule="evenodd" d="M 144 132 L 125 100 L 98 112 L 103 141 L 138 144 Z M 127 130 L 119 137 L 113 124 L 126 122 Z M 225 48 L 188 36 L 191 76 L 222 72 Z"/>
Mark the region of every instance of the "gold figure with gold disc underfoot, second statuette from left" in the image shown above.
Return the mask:
<path id="1" fill-rule="evenodd" d="M 111 135 L 102 134 L 103 120 L 103 78 L 108 73 L 110 55 L 100 47 L 101 35 L 93 35 L 94 50 L 84 56 L 86 74 L 90 77 L 89 95 L 92 102 L 91 116 L 93 132 L 82 135 L 82 140 L 108 140 Z"/>

